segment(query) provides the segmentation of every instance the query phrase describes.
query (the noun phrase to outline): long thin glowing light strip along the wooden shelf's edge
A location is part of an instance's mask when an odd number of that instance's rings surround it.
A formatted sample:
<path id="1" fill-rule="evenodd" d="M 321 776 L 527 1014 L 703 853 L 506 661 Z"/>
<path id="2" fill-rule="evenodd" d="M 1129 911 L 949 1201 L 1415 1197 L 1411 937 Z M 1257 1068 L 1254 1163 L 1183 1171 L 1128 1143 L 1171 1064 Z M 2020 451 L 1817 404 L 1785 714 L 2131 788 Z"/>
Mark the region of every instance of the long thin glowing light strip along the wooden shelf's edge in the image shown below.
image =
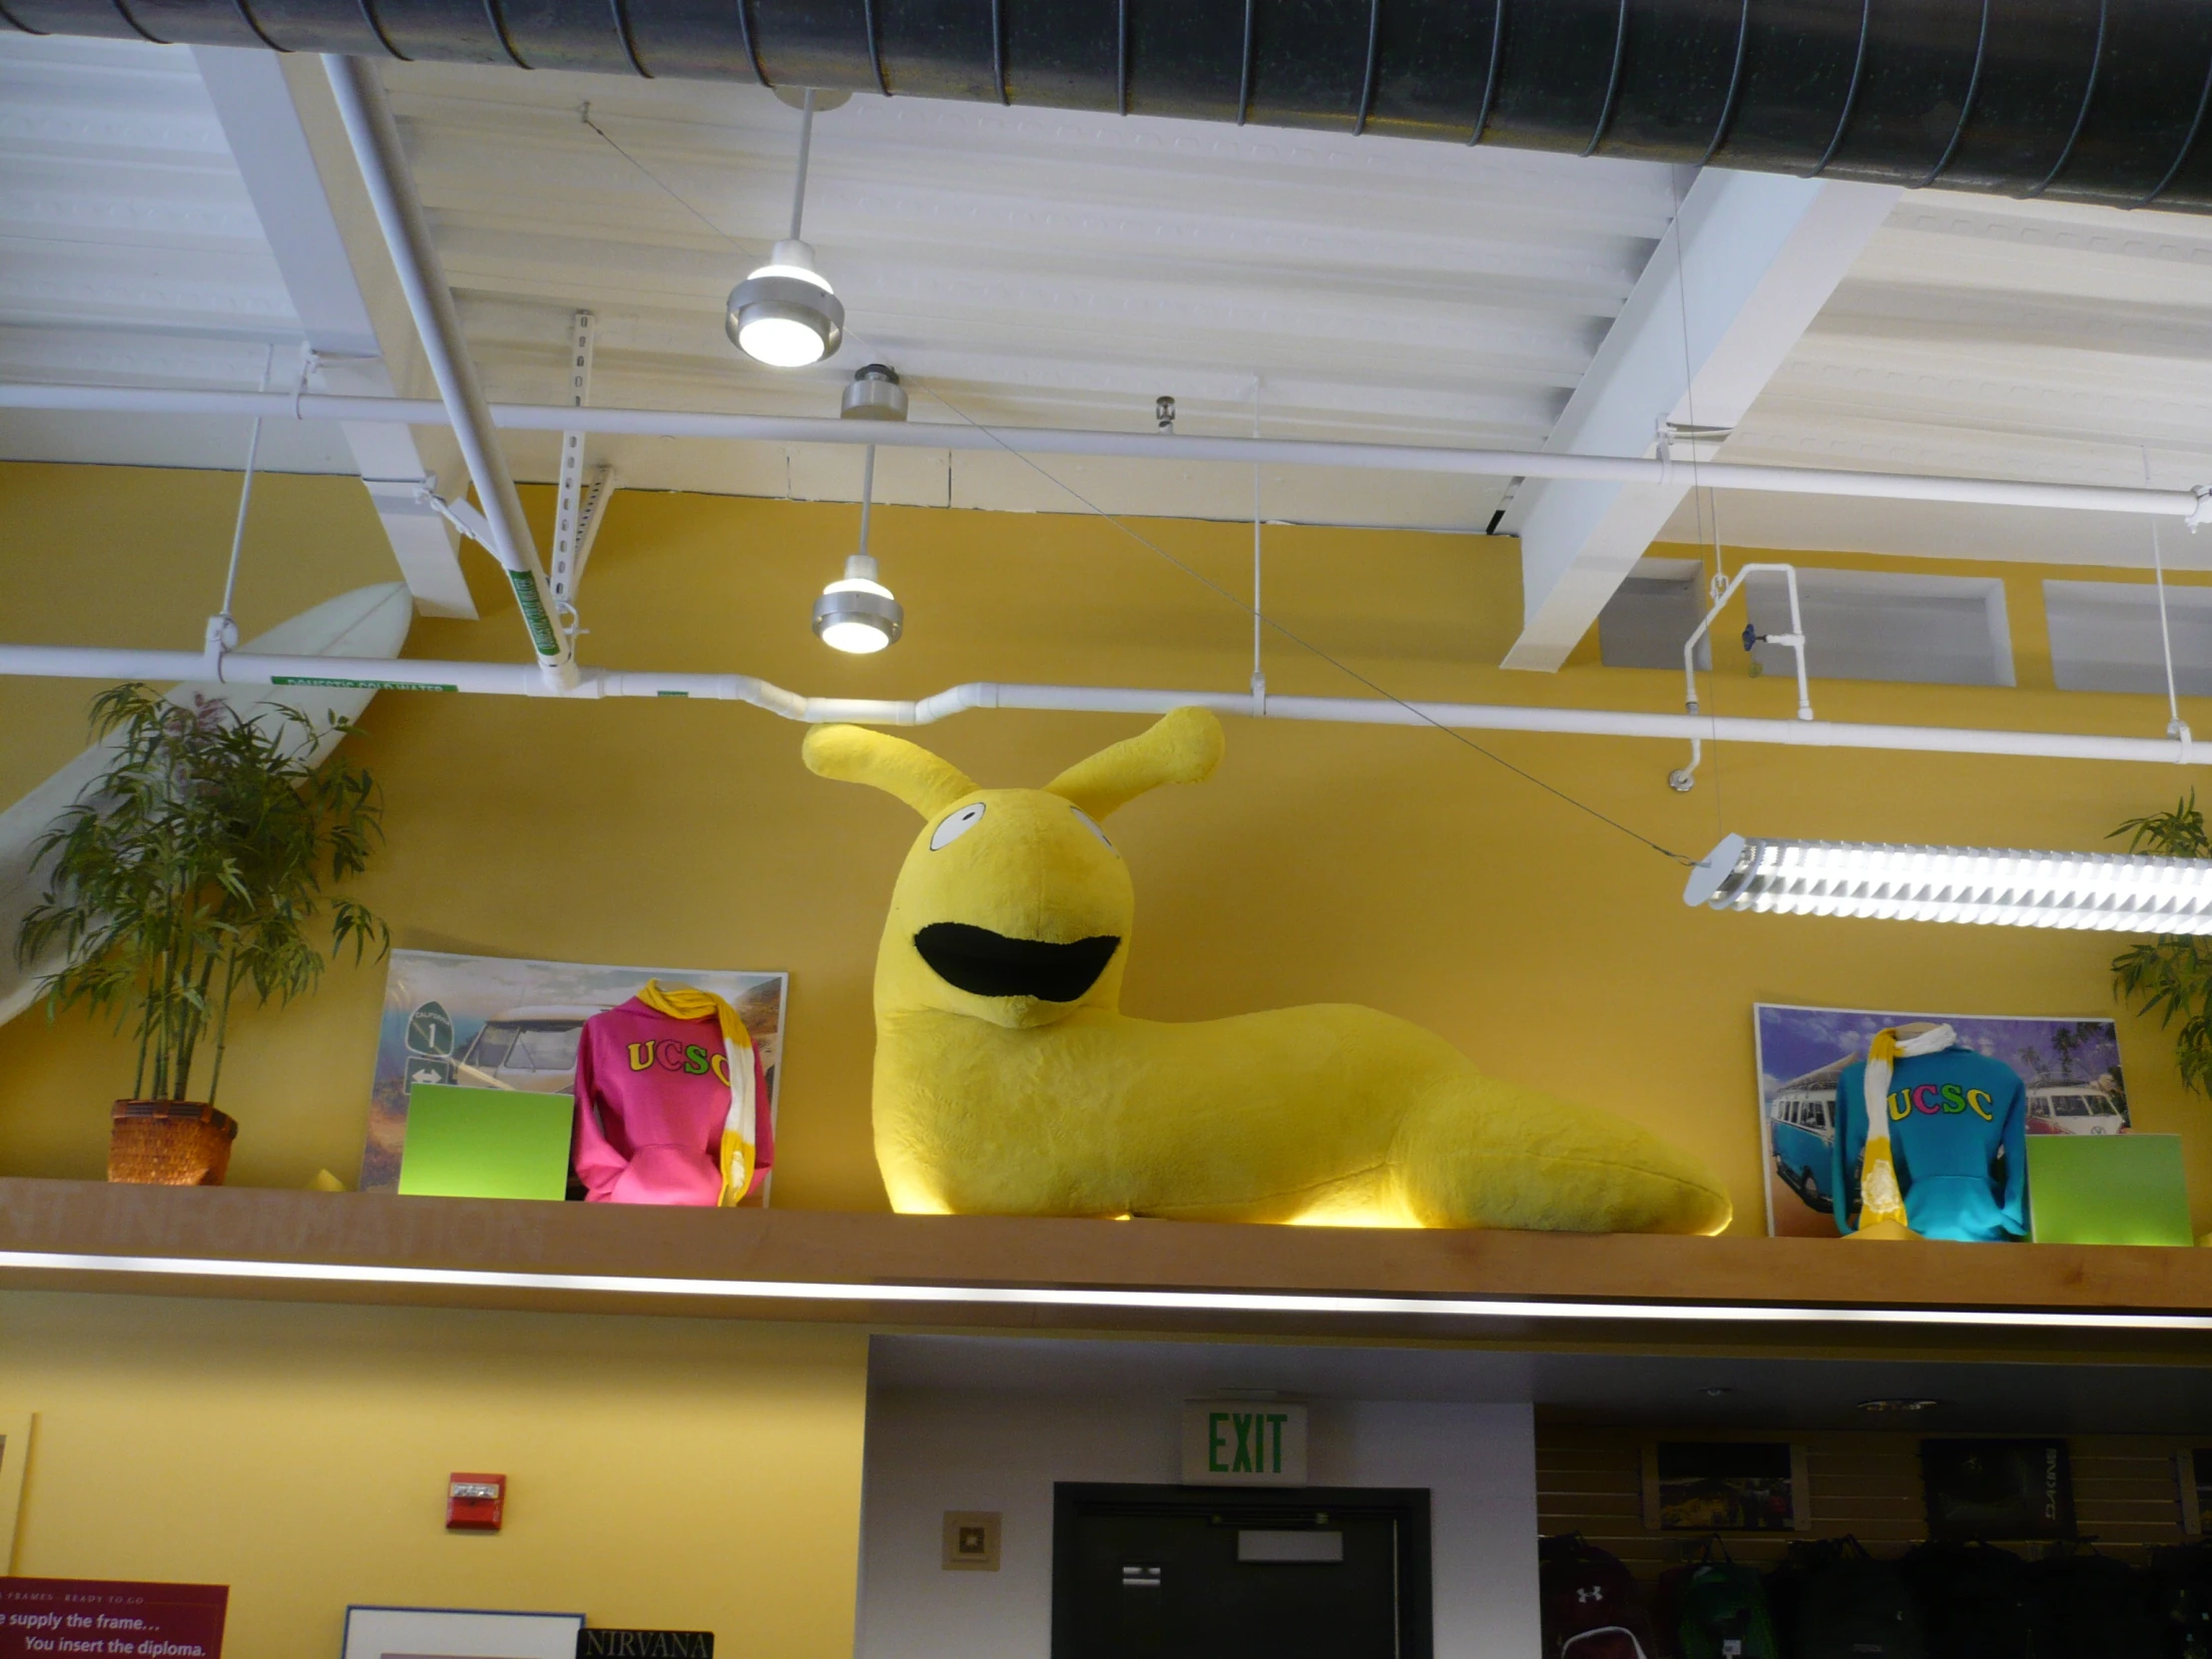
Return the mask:
<path id="1" fill-rule="evenodd" d="M 1064 1285 L 889 1285 L 801 1279 L 659 1279 L 491 1267 L 394 1267 L 354 1261 L 241 1261 L 234 1256 L 108 1256 L 73 1250 L 0 1250 L 0 1274 L 117 1274 L 307 1285 L 577 1292 L 719 1301 L 1088 1307 L 1194 1314 L 1387 1314 L 1420 1318 L 1661 1321 L 1670 1325 L 1975 1325 L 2095 1332 L 2212 1332 L 2212 1314 L 2059 1307 L 1785 1307 L 1743 1303 L 1575 1303 L 1511 1296 L 1356 1296 L 1265 1290 L 1079 1290 Z"/>

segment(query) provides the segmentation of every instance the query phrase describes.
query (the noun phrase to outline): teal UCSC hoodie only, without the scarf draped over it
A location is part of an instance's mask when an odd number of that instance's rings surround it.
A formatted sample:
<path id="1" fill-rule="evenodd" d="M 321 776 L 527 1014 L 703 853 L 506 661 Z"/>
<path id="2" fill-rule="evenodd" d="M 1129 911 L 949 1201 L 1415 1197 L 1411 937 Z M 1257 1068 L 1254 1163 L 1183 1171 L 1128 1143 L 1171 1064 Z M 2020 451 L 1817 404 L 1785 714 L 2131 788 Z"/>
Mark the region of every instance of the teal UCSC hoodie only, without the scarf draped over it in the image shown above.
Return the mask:
<path id="1" fill-rule="evenodd" d="M 1896 1062 L 1889 1148 L 1907 1225 L 1922 1239 L 2028 1234 L 2028 1091 L 2020 1073 L 1973 1048 Z M 1836 1228 L 1858 1230 L 1858 1166 L 1867 1152 L 1867 1062 L 1836 1079 Z M 2000 1161 L 2002 1159 L 2002 1161 Z"/>

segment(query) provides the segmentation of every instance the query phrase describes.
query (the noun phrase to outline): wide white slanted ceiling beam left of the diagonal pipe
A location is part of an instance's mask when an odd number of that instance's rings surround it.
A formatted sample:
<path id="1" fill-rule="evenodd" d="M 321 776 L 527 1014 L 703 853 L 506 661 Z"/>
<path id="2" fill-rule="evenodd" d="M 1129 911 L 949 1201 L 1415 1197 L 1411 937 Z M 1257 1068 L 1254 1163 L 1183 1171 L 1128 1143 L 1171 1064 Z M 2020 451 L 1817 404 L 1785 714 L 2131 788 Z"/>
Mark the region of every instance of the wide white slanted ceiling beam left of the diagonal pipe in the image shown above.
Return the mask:
<path id="1" fill-rule="evenodd" d="M 389 352 L 363 299 L 338 217 L 307 146 L 283 60 L 265 51 L 192 46 L 215 115 L 254 201 L 292 310 L 332 394 L 389 396 Z M 400 319 L 389 319 L 387 330 Z M 451 526 L 420 502 L 425 465 L 407 427 L 343 422 L 400 577 L 425 617 L 473 617 Z"/>

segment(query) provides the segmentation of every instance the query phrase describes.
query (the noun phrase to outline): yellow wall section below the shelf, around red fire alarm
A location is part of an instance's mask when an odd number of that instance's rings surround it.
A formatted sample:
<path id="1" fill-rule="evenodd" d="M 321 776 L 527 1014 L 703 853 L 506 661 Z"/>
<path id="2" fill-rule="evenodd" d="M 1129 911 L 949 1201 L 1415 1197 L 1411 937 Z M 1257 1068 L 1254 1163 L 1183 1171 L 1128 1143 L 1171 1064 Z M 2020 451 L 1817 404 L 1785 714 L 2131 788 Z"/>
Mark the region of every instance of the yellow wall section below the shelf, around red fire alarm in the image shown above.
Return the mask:
<path id="1" fill-rule="evenodd" d="M 228 1584 L 226 1659 L 336 1655 L 349 1601 L 845 1655 L 865 1394 L 841 1327 L 0 1294 L 13 1571 Z M 445 1531 L 456 1471 L 504 1531 Z"/>

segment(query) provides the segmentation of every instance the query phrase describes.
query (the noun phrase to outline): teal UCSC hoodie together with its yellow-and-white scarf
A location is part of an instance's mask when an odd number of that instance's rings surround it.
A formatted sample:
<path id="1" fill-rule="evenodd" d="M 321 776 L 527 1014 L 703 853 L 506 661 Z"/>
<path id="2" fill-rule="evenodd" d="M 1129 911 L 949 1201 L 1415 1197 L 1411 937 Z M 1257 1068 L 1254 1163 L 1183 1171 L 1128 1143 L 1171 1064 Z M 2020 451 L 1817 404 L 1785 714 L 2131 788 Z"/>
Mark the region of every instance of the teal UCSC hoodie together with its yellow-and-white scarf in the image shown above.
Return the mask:
<path id="1" fill-rule="evenodd" d="M 1867 1060 L 1836 1079 L 1836 1119 L 1840 1232 L 2026 1237 L 2026 1088 L 2002 1060 L 1962 1048 L 1951 1026 L 1874 1033 Z"/>

